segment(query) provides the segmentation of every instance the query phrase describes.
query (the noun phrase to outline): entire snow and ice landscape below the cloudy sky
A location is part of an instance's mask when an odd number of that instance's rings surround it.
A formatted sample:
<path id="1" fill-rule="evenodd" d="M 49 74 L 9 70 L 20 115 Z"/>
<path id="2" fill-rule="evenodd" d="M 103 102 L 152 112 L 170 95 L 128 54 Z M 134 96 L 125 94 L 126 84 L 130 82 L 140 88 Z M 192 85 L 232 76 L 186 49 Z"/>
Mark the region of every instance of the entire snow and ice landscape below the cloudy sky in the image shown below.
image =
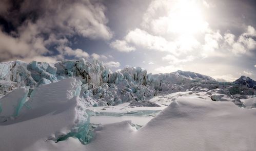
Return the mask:
<path id="1" fill-rule="evenodd" d="M 237 85 L 180 70 L 112 72 L 85 60 L 0 69 L 0 150 L 256 149 L 249 78 Z"/>

